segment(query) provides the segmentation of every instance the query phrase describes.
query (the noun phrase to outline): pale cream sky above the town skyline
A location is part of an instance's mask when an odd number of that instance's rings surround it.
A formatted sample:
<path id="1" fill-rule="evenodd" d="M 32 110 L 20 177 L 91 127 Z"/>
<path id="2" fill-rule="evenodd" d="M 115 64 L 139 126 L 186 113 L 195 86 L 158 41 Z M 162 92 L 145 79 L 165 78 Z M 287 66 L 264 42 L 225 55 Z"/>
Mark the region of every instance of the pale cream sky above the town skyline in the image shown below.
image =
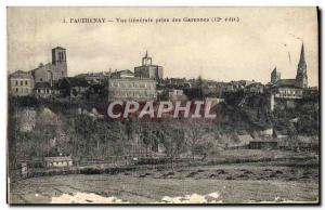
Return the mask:
<path id="1" fill-rule="evenodd" d="M 117 23 L 116 18 L 154 23 Z M 218 23 L 155 23 L 156 18 L 212 18 Z M 238 17 L 239 22 L 224 22 Z M 104 24 L 64 23 L 106 18 Z M 304 44 L 309 86 L 318 86 L 316 8 L 9 8 L 8 70 L 51 62 L 51 49 L 67 49 L 68 76 L 141 65 L 147 50 L 164 77 L 217 81 L 270 81 L 296 77 Z"/>

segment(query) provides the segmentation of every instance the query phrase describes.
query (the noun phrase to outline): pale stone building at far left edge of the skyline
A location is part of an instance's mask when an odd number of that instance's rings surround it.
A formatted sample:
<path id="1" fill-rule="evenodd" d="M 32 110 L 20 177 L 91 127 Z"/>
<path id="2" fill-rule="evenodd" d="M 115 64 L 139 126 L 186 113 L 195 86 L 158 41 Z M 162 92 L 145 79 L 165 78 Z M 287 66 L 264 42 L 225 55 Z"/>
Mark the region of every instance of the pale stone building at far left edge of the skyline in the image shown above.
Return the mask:
<path id="1" fill-rule="evenodd" d="M 30 73 L 17 70 L 9 76 L 9 93 L 14 96 L 32 94 L 34 78 Z"/>

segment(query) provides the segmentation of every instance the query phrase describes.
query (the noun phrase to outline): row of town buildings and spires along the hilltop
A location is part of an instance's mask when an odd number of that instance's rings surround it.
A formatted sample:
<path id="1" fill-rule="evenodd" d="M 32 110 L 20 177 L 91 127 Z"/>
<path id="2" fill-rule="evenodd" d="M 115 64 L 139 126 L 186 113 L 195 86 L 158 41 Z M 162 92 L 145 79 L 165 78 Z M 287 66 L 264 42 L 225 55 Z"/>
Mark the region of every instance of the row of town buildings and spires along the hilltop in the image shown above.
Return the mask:
<path id="1" fill-rule="evenodd" d="M 40 63 L 35 69 L 17 70 L 9 76 L 10 95 L 32 95 L 42 99 L 84 97 L 106 92 L 105 97 L 108 101 L 161 99 L 176 101 L 185 97 L 222 100 L 225 94 L 239 91 L 256 94 L 268 92 L 272 99 L 287 100 L 288 104 L 317 94 L 317 87 L 308 86 L 303 44 L 296 78 L 282 79 L 280 70 L 275 67 L 266 84 L 253 80 L 219 82 L 200 77 L 197 79 L 164 77 L 164 67 L 154 65 L 147 52 L 142 58 L 142 65 L 134 67 L 133 71 L 116 69 L 68 77 L 66 49 L 61 47 L 52 49 L 52 63 Z M 271 109 L 273 102 L 274 100 L 271 102 Z"/>

